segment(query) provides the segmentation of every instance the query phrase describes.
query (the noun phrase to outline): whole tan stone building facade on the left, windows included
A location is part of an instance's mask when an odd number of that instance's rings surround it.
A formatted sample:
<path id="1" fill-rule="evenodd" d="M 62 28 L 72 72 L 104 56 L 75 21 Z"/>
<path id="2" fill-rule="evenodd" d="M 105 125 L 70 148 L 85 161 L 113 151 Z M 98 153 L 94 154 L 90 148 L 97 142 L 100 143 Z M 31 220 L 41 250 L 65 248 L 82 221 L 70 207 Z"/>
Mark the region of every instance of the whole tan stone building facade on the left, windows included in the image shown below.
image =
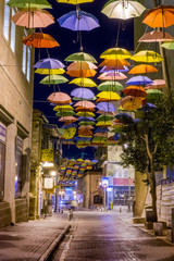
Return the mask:
<path id="1" fill-rule="evenodd" d="M 34 51 L 0 1 L 0 227 L 28 220 Z"/>

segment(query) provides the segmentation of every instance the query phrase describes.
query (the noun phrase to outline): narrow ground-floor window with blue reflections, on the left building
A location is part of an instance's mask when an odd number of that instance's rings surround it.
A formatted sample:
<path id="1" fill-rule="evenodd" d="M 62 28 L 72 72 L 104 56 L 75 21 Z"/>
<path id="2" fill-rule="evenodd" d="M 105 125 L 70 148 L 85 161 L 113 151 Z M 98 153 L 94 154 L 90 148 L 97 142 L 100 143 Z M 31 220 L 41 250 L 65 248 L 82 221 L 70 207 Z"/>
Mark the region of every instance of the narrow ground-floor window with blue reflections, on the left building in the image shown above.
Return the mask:
<path id="1" fill-rule="evenodd" d="M 15 158 L 15 198 L 22 196 L 22 173 L 23 173 L 23 139 L 16 137 L 16 158 Z"/>

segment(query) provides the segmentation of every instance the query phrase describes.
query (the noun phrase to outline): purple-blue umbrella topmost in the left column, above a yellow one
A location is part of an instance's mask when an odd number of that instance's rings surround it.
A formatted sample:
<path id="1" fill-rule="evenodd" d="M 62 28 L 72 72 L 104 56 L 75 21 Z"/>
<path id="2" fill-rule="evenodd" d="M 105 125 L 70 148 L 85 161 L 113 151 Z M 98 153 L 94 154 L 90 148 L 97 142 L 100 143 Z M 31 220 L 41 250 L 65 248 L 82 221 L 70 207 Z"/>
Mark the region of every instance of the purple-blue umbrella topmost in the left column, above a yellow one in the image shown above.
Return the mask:
<path id="1" fill-rule="evenodd" d="M 63 69 L 64 64 L 59 60 L 55 60 L 52 58 L 46 58 L 46 59 L 38 61 L 34 65 L 34 67 L 37 67 L 37 69 Z"/>

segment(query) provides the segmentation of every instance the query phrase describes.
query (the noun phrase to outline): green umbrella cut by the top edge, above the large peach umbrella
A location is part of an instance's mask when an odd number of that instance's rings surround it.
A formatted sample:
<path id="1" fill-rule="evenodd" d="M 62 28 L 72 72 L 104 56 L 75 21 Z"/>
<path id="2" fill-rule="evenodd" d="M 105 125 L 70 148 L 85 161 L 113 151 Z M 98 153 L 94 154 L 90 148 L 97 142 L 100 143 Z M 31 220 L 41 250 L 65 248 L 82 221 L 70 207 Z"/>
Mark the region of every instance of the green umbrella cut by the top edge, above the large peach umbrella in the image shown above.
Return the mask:
<path id="1" fill-rule="evenodd" d="M 7 3 L 10 8 L 37 8 L 37 9 L 52 9 L 47 0 L 10 0 Z"/>

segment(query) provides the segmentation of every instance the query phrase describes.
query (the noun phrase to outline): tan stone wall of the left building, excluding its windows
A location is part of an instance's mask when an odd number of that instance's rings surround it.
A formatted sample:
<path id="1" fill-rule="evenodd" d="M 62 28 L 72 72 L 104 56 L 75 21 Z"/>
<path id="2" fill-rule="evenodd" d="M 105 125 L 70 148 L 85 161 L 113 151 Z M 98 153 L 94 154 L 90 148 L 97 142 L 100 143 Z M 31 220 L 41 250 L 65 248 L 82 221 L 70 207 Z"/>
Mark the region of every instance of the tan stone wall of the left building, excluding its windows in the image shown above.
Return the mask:
<path id="1" fill-rule="evenodd" d="M 12 10 L 10 10 L 10 13 Z M 8 17 L 5 15 L 5 17 Z M 3 216 L 0 225 L 11 222 L 27 221 L 28 219 L 28 192 L 29 192 L 29 153 L 32 133 L 32 110 L 33 110 L 33 70 L 30 79 L 22 71 L 24 29 L 15 27 L 15 50 L 12 51 L 10 40 L 7 40 L 3 33 L 4 0 L 0 1 L 0 122 L 5 125 L 5 160 L 4 160 L 4 195 L 0 206 L 9 204 L 11 219 L 4 223 Z M 10 21 L 10 35 L 13 24 Z M 11 36 L 10 39 L 13 39 Z M 30 50 L 32 63 L 34 52 Z M 29 60 L 28 60 L 29 62 Z M 26 61 L 27 63 L 27 61 Z M 26 64 L 25 63 L 25 64 Z M 28 71 L 29 72 L 29 71 Z M 22 194 L 15 199 L 15 175 L 16 162 L 16 137 L 23 140 L 22 146 Z M 20 202 L 18 202 L 20 201 Z M 1 208 L 1 207 L 0 207 Z"/>

